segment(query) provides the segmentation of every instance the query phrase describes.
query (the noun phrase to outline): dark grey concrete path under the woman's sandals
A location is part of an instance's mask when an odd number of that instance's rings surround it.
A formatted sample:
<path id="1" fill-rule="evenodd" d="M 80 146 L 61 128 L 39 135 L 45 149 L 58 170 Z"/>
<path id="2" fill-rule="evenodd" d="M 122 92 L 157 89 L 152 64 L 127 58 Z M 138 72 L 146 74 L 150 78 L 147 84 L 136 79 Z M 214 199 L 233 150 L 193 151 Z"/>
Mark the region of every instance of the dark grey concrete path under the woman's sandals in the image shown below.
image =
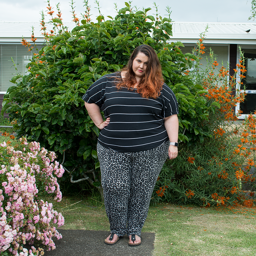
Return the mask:
<path id="1" fill-rule="evenodd" d="M 56 249 L 45 251 L 44 256 L 152 256 L 154 250 L 154 233 L 142 233 L 141 245 L 129 246 L 126 235 L 114 245 L 105 244 L 108 231 L 58 231 L 62 239 L 55 241 Z"/>

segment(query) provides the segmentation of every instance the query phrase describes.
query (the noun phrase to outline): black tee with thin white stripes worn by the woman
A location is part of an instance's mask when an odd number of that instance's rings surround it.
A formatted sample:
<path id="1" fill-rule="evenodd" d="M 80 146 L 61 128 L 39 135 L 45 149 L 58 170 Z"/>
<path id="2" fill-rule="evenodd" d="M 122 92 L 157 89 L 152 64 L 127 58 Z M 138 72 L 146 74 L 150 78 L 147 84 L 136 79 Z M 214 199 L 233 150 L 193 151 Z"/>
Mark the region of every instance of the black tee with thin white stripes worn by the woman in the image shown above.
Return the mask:
<path id="1" fill-rule="evenodd" d="M 119 152 L 140 152 L 160 146 L 168 140 L 164 117 L 178 114 L 172 90 L 163 85 L 157 99 L 143 98 L 136 89 L 116 88 L 121 73 L 104 75 L 82 97 L 97 104 L 110 123 L 100 131 L 98 142 Z"/>

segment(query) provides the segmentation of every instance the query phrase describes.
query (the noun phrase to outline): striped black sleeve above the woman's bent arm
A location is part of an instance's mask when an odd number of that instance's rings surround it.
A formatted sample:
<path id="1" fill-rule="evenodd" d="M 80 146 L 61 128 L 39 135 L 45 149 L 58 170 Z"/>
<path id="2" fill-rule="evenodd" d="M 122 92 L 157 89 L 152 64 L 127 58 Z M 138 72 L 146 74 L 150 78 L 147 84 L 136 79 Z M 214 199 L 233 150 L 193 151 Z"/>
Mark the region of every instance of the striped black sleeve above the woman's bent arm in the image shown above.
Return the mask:
<path id="1" fill-rule="evenodd" d="M 82 99 L 87 103 L 95 103 L 101 107 L 104 103 L 106 84 L 107 77 L 101 77 L 88 88 Z"/>

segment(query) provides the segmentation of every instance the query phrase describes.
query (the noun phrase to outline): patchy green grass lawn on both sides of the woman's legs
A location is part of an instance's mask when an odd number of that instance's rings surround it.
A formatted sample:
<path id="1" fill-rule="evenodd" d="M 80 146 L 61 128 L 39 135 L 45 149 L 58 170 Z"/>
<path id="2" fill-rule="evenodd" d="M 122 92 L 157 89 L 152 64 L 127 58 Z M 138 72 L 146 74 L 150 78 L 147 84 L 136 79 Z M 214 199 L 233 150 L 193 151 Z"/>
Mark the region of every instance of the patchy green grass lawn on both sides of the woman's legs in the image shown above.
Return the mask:
<path id="1" fill-rule="evenodd" d="M 54 205 L 65 218 L 63 229 L 109 230 L 101 203 L 63 197 Z M 142 231 L 155 233 L 155 256 L 256 255 L 255 207 L 203 208 L 159 204 L 150 206 Z"/>

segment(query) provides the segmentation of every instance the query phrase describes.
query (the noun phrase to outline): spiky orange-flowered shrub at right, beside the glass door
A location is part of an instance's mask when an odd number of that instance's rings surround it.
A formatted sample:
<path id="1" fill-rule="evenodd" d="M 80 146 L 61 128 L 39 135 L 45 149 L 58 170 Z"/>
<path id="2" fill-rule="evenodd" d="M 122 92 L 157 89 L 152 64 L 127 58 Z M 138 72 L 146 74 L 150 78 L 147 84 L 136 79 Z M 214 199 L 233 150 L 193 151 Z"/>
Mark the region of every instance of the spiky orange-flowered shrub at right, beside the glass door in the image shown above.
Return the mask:
<path id="1" fill-rule="evenodd" d="M 178 157 L 165 164 L 156 188 L 168 185 L 163 193 L 170 203 L 252 207 L 255 203 L 255 174 L 252 172 L 256 167 L 255 115 L 248 115 L 242 131 L 241 127 L 231 125 L 241 115 L 235 113 L 234 108 L 245 98 L 245 93 L 236 89 L 243 86 L 241 79 L 245 77 L 243 54 L 233 76 L 229 75 L 225 64 L 219 67 L 211 50 L 208 65 L 202 70 L 204 38 L 203 33 L 193 49 L 195 56 L 187 54 L 188 68 L 183 73 L 193 77 L 195 84 L 204 89 L 208 116 L 204 121 L 193 121 L 193 127 L 196 131 L 208 132 L 209 136 L 191 145 L 180 143 Z M 187 134 L 184 129 L 184 135 Z M 198 132 L 198 136 L 201 134 Z"/>

